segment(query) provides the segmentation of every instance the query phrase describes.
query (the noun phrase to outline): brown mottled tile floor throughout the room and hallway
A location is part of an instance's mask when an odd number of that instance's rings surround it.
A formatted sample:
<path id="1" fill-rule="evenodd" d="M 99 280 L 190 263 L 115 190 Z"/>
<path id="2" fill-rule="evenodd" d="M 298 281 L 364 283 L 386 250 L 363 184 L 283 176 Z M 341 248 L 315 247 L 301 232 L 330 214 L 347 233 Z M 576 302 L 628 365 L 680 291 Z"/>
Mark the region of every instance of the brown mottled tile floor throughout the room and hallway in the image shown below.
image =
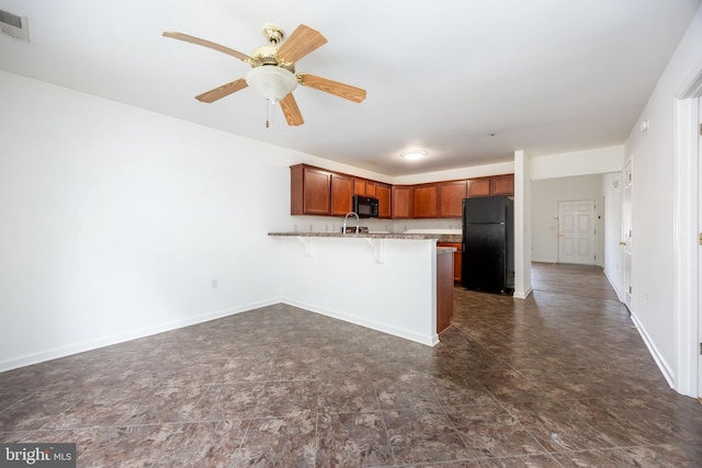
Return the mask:
<path id="1" fill-rule="evenodd" d="M 79 466 L 702 466 L 601 270 L 455 289 L 435 347 L 279 305 L 0 374 L 0 441 Z"/>

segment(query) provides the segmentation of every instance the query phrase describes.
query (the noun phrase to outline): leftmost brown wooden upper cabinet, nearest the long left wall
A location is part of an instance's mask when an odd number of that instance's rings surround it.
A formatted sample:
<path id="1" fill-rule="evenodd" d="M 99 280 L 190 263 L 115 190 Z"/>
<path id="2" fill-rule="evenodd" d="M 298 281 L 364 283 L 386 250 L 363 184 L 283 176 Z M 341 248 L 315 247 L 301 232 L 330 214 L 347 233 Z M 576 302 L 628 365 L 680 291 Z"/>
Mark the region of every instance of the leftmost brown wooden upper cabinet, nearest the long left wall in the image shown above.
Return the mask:
<path id="1" fill-rule="evenodd" d="M 305 164 L 292 165 L 291 215 L 331 214 L 331 172 Z"/>

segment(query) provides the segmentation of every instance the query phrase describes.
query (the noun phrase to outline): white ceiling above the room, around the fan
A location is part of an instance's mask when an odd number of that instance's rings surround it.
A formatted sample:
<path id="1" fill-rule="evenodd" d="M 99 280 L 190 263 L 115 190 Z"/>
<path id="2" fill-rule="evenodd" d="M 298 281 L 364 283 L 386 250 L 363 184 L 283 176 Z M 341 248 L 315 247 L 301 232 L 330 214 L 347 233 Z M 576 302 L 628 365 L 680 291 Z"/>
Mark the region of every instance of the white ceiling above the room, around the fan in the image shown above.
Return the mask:
<path id="1" fill-rule="evenodd" d="M 0 35 L 0 69 L 397 176 L 621 145 L 701 0 L 0 0 L 30 43 Z M 196 94 L 249 66 L 161 36 L 251 54 L 262 27 L 328 43 L 296 64 L 367 90 L 355 104 L 298 87 L 288 127 L 245 89 Z M 492 136 L 494 134 L 494 136 Z M 408 163 L 406 149 L 429 158 Z"/>

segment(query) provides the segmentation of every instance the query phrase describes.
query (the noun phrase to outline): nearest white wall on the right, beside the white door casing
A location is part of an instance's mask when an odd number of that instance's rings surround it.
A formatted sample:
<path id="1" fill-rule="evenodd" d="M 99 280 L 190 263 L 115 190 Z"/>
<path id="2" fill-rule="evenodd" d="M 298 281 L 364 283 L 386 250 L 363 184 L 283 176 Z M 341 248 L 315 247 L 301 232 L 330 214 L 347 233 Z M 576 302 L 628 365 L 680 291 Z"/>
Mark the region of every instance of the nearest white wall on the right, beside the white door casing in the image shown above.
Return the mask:
<path id="1" fill-rule="evenodd" d="M 675 385 L 675 105 L 702 67 L 702 8 L 626 140 L 633 159 L 632 315 Z M 648 132 L 639 123 L 649 122 Z"/>

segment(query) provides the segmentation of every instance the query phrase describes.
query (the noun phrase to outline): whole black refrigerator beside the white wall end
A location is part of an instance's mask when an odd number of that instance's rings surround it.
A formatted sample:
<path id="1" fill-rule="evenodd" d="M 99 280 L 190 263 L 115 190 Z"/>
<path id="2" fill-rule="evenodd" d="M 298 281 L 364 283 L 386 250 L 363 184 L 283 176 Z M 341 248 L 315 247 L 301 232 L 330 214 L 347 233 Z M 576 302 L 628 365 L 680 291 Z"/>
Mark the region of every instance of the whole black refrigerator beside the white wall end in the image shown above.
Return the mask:
<path id="1" fill-rule="evenodd" d="M 514 198 L 463 199 L 463 287 L 514 292 Z"/>

